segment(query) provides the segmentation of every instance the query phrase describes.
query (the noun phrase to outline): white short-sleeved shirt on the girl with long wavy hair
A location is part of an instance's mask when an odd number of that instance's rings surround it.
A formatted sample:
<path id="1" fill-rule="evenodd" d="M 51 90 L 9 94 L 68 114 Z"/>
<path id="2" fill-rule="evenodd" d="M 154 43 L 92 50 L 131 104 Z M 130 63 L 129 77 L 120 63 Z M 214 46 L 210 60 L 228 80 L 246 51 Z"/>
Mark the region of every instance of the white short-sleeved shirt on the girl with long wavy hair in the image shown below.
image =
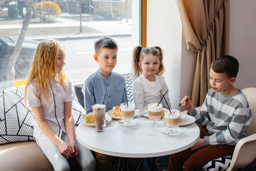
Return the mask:
<path id="1" fill-rule="evenodd" d="M 48 103 L 46 99 L 36 98 L 36 84 L 32 81 L 27 90 L 27 104 L 29 107 L 41 107 L 48 125 L 53 132 L 61 138 L 62 132 L 66 133 L 64 123 L 64 103 L 75 99 L 74 88 L 71 81 L 66 81 L 66 91 L 61 84 L 56 81 L 50 81 Z M 52 88 L 52 90 L 51 90 Z M 48 139 L 48 137 L 39 128 L 37 122 L 34 123 L 34 138 L 39 140 Z"/>

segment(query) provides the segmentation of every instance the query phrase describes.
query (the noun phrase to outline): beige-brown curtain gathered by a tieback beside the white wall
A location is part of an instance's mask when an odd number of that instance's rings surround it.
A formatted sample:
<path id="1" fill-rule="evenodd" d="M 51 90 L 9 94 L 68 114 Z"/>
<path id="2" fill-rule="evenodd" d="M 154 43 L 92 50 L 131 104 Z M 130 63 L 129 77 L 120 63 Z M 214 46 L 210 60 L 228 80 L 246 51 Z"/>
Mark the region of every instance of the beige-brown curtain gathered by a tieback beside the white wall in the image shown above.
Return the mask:
<path id="1" fill-rule="evenodd" d="M 178 0 L 183 36 L 198 51 L 193 82 L 193 105 L 202 105 L 210 88 L 210 65 L 229 53 L 229 0 Z"/>

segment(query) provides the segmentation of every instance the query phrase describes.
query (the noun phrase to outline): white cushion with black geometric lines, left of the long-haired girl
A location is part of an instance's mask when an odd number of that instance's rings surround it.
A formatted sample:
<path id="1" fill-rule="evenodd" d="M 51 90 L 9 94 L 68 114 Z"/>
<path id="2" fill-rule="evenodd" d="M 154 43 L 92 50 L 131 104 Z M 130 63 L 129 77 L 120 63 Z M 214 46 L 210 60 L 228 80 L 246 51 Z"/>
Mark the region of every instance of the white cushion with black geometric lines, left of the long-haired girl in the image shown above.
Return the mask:
<path id="1" fill-rule="evenodd" d="M 24 102 L 25 86 L 0 90 L 0 144 L 34 140 L 34 114 Z"/>

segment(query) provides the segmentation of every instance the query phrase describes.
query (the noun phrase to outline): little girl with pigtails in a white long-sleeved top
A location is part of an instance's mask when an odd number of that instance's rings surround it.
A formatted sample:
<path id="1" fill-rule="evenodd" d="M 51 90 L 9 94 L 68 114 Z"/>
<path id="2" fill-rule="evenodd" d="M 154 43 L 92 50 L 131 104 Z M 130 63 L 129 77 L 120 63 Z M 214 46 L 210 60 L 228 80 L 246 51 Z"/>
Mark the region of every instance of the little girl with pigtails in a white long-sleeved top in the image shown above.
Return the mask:
<path id="1" fill-rule="evenodd" d="M 165 71 L 162 48 L 159 46 L 135 47 L 133 50 L 133 71 L 136 78 L 133 84 L 136 108 L 146 108 L 150 103 L 158 103 L 168 90 L 165 78 L 162 76 Z M 170 107 L 168 93 L 165 95 L 165 99 Z M 165 100 L 162 100 L 161 103 L 163 108 L 168 108 Z"/>

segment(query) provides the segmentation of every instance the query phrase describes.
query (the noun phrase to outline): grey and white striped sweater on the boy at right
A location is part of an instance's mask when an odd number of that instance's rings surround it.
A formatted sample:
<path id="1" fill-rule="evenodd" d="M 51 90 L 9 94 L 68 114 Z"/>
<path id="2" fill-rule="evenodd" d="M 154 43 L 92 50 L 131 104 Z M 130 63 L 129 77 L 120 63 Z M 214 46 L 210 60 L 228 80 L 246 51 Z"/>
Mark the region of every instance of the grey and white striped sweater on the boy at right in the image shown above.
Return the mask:
<path id="1" fill-rule="evenodd" d="M 210 136 L 205 136 L 205 146 L 235 145 L 245 138 L 252 120 L 252 112 L 242 91 L 225 96 L 210 89 L 202 108 L 193 110 L 191 115 L 201 125 L 208 123 L 206 129 Z"/>

